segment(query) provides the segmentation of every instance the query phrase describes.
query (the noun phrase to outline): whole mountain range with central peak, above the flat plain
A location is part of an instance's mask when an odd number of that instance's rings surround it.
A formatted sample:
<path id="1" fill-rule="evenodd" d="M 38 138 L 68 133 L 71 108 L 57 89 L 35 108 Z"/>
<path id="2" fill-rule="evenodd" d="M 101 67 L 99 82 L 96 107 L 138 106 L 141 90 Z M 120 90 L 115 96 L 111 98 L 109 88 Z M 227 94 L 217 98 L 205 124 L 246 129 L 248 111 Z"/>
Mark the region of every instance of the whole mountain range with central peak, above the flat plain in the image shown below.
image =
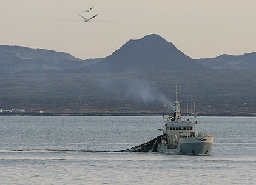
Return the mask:
<path id="1" fill-rule="evenodd" d="M 149 73 L 208 69 L 256 69 L 256 52 L 192 59 L 157 34 L 130 40 L 106 58 L 87 60 L 53 50 L 0 45 L 0 73 Z"/>

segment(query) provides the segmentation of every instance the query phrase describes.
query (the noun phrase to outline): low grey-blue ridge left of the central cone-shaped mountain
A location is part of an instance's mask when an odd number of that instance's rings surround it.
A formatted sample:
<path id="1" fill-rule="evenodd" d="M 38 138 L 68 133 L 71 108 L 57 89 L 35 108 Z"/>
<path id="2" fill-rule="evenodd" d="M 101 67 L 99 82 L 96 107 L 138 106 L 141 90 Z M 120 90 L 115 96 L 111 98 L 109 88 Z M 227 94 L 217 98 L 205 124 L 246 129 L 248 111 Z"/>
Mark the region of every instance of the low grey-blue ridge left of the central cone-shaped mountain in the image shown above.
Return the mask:
<path id="1" fill-rule="evenodd" d="M 29 47 L 0 45 L 0 73 L 16 73 L 22 70 L 78 69 L 93 64 L 64 53 Z"/>

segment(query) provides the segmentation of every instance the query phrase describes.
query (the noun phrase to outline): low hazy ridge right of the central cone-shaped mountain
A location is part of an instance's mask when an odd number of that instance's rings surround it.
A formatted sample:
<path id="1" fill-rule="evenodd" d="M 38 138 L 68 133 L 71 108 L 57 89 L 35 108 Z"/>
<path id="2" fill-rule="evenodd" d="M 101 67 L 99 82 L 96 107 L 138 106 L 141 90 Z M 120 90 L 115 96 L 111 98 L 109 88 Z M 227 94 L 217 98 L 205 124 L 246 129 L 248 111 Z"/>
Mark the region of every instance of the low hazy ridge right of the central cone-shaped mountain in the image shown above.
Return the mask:
<path id="1" fill-rule="evenodd" d="M 256 69 L 256 52 L 237 56 L 224 54 L 195 61 L 211 69 Z"/>

